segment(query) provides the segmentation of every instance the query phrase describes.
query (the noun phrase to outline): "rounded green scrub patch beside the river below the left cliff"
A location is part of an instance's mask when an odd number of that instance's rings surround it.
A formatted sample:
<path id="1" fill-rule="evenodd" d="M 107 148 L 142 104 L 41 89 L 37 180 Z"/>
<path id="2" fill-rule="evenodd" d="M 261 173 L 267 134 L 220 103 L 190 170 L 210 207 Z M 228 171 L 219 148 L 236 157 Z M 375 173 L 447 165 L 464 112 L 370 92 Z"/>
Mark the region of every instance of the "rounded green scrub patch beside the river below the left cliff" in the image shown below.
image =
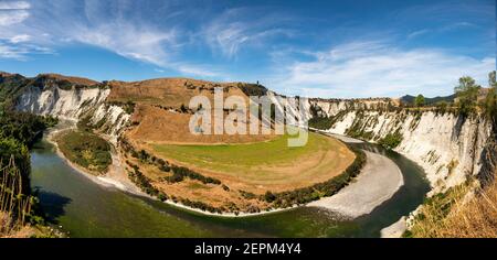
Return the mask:
<path id="1" fill-rule="evenodd" d="M 93 173 L 105 173 L 112 163 L 110 144 L 92 132 L 68 130 L 55 141 L 65 158 Z"/>

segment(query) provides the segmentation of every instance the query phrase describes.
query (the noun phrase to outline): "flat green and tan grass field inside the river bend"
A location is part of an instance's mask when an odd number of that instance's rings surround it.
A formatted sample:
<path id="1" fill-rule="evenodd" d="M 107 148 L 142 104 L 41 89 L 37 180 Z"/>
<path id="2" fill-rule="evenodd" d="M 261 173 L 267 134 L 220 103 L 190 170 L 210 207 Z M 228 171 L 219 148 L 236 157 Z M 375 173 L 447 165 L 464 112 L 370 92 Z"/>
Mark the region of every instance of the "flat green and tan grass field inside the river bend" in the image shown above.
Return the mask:
<path id="1" fill-rule="evenodd" d="M 285 184 L 341 173 L 353 161 L 347 147 L 309 132 L 304 147 L 287 147 L 288 136 L 250 144 L 152 144 L 155 153 L 188 166 L 240 177 L 252 184 Z M 335 173 L 339 171 L 338 173 Z M 326 176 L 325 176 L 326 178 Z M 326 178 L 327 180 L 327 178 Z"/>

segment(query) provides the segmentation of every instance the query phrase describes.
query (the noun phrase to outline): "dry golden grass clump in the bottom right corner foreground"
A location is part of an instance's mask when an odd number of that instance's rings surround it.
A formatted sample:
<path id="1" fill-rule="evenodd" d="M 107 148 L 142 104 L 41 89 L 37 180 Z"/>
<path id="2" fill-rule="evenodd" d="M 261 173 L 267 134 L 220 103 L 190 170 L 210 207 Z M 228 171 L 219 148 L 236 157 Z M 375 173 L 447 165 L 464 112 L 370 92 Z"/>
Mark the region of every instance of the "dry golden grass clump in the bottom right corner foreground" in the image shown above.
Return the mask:
<path id="1" fill-rule="evenodd" d="M 475 194 L 461 185 L 432 199 L 411 228 L 412 237 L 496 238 L 497 183 Z"/>

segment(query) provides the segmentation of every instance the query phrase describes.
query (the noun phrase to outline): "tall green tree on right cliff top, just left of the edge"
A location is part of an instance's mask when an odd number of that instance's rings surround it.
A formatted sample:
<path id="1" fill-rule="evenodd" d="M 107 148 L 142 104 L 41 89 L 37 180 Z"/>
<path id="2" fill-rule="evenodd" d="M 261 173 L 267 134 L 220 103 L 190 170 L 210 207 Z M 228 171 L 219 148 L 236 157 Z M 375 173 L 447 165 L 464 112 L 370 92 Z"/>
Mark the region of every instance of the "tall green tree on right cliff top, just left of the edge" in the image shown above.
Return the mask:
<path id="1" fill-rule="evenodd" d="M 480 88 L 472 77 L 459 78 L 459 85 L 454 88 L 454 91 L 457 96 L 457 109 L 462 116 L 467 117 L 475 111 Z"/>

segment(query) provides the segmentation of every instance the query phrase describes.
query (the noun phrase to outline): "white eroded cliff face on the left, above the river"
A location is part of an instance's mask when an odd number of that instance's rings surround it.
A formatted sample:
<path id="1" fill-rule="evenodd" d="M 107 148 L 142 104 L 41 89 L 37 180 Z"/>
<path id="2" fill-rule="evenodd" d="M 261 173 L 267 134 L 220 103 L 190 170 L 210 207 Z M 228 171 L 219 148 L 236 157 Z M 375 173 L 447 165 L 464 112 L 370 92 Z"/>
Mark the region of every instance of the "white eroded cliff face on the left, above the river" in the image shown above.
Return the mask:
<path id="1" fill-rule="evenodd" d="M 88 120 L 115 142 L 130 115 L 119 106 L 105 102 L 109 93 L 110 89 L 102 87 L 28 86 L 17 100 L 17 109 L 66 120 Z"/>

